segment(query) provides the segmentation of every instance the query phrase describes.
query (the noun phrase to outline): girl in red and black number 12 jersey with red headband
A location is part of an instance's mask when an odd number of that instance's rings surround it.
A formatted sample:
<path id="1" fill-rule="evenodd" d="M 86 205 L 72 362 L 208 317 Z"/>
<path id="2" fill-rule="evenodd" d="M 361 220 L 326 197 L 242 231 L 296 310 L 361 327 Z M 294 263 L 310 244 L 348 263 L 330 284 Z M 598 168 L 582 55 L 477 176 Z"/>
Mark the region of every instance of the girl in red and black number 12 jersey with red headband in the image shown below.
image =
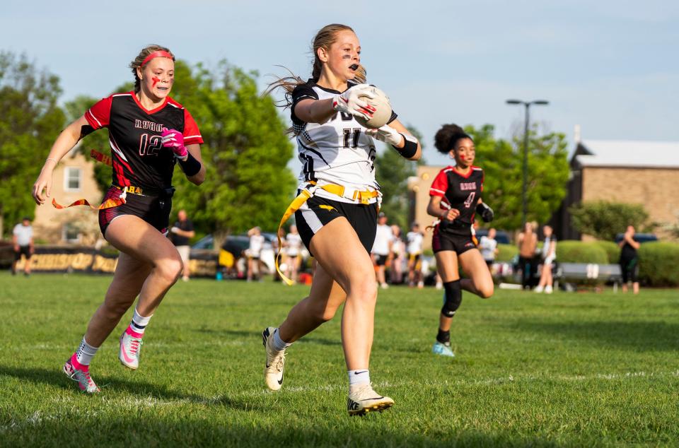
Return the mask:
<path id="1" fill-rule="evenodd" d="M 137 369 L 139 349 L 149 319 L 182 273 L 177 249 L 166 238 L 172 206 L 175 163 L 187 178 L 201 184 L 205 177 L 200 143 L 191 114 L 168 95 L 174 82 L 175 57 L 150 45 L 132 61 L 132 92 L 100 100 L 59 134 L 33 185 L 33 198 L 45 202 L 52 189 L 52 172 L 78 141 L 108 128 L 113 182 L 99 211 L 105 239 L 120 250 L 113 281 L 103 304 L 93 315 L 80 347 L 64 372 L 88 393 L 98 391 L 89 364 L 98 348 L 139 295 L 134 317 L 120 336 L 120 362 Z"/>

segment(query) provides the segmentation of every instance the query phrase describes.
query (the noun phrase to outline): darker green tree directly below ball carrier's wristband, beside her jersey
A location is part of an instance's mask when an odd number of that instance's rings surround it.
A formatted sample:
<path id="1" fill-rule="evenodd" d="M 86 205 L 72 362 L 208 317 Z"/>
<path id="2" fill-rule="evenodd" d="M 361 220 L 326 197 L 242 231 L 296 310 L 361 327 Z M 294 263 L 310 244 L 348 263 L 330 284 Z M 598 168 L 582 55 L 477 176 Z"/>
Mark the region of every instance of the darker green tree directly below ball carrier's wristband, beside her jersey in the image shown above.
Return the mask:
<path id="1" fill-rule="evenodd" d="M 422 134 L 413 126 L 408 125 L 407 128 L 422 144 Z M 390 223 L 399 225 L 402 229 L 410 228 L 408 177 L 417 175 L 417 165 L 420 164 L 424 164 L 424 159 L 413 163 L 412 160 L 403 158 L 390 145 L 384 145 L 375 160 L 375 177 L 383 195 L 381 210 L 388 216 Z"/>

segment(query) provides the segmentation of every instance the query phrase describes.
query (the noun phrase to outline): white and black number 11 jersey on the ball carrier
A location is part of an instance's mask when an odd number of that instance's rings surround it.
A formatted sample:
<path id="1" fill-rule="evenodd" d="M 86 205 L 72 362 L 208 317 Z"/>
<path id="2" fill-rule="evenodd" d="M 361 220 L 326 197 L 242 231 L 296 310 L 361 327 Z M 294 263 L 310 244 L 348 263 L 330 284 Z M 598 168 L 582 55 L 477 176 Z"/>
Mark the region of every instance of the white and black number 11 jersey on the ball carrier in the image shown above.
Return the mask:
<path id="1" fill-rule="evenodd" d="M 349 81 L 349 88 L 354 84 Z M 344 185 L 352 189 L 378 190 L 380 185 L 375 180 L 375 142 L 366 135 L 366 128 L 356 121 L 352 114 L 337 112 L 323 124 L 306 123 L 295 115 L 295 106 L 301 100 L 327 100 L 342 93 L 317 86 L 309 80 L 295 88 L 292 93 L 292 122 L 297 136 L 298 157 L 302 170 L 298 179 L 300 186 L 308 181 L 321 181 Z M 397 115 L 392 112 L 389 122 Z M 342 198 L 325 190 L 318 189 L 318 196 L 349 203 L 359 201 Z M 377 201 L 376 198 L 371 202 Z"/>

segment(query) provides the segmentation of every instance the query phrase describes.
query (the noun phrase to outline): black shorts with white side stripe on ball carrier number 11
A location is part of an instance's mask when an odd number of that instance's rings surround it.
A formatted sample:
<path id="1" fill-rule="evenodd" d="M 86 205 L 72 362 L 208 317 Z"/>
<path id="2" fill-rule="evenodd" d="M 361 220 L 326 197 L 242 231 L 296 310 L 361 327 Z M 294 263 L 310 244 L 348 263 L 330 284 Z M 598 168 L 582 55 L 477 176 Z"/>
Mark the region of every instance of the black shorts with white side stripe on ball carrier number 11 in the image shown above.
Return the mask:
<path id="1" fill-rule="evenodd" d="M 344 216 L 356 230 L 361 244 L 370 253 L 377 232 L 377 204 L 348 204 L 313 196 L 295 212 L 295 222 L 302 242 L 311 254 L 311 238 L 324 225 Z M 311 254 L 313 257 L 313 254 Z"/>

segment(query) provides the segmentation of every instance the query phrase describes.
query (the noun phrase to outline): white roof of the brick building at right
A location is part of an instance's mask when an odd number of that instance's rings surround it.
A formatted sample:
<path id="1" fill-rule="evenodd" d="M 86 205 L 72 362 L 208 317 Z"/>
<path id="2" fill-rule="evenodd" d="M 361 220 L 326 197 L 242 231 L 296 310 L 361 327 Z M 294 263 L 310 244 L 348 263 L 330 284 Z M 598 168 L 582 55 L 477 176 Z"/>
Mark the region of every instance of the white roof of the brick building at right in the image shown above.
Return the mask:
<path id="1" fill-rule="evenodd" d="M 679 168 L 679 141 L 586 140 L 573 159 L 582 167 Z"/>

